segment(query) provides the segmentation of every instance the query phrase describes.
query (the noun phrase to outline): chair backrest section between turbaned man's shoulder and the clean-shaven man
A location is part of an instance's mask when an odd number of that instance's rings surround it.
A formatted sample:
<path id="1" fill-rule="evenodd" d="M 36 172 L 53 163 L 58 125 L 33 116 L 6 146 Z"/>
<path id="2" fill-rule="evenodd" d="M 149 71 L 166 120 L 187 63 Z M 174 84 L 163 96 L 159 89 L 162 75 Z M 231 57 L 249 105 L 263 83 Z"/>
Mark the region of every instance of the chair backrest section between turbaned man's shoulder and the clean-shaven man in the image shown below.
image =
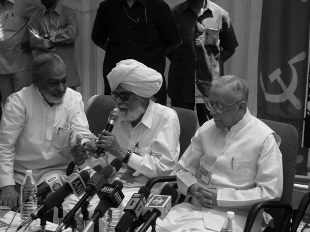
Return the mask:
<path id="1" fill-rule="evenodd" d="M 179 159 L 190 145 L 191 138 L 197 130 L 197 117 L 194 111 L 171 106 L 178 115 L 180 122 L 180 155 Z"/>

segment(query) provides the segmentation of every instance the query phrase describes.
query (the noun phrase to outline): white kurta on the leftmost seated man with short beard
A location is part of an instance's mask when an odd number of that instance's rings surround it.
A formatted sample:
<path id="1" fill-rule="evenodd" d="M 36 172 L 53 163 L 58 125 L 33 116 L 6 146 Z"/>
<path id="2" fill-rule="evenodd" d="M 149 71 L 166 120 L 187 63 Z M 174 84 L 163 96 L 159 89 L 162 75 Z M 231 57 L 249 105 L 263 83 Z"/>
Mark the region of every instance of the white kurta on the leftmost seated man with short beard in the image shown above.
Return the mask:
<path id="1" fill-rule="evenodd" d="M 63 101 L 53 106 L 34 85 L 12 94 L 0 124 L 0 188 L 21 184 L 26 170 L 37 184 L 65 174 L 76 132 L 91 133 L 78 92 L 67 88 Z"/>

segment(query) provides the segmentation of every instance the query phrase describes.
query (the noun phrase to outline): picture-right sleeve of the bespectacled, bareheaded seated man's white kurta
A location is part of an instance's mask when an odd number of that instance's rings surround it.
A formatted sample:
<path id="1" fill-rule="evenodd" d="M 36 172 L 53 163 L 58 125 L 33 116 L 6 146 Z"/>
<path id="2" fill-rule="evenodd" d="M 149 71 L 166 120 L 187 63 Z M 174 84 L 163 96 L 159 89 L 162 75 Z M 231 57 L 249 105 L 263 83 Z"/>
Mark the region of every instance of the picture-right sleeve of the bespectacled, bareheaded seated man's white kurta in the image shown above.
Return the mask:
<path id="1" fill-rule="evenodd" d="M 282 195 L 282 154 L 273 134 L 265 139 L 259 159 L 256 186 L 246 190 L 222 188 L 217 191 L 218 206 L 252 206 L 262 201 L 279 200 Z"/>

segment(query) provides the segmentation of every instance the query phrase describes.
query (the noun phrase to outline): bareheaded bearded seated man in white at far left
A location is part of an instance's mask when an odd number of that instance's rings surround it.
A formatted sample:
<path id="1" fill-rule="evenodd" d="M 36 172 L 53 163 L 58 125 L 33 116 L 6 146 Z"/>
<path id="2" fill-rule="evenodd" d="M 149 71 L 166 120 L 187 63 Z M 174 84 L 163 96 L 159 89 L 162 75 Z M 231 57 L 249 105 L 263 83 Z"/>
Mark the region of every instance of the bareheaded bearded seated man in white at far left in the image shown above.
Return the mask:
<path id="1" fill-rule="evenodd" d="M 62 58 L 42 54 L 34 58 L 31 67 L 33 84 L 10 95 L 4 106 L 0 124 L 0 205 L 19 204 L 26 170 L 32 170 L 37 185 L 50 176 L 65 174 L 72 160 L 70 148 L 85 155 L 79 138 L 91 134 L 82 96 L 67 88 Z M 87 145 L 89 140 L 85 141 Z"/>

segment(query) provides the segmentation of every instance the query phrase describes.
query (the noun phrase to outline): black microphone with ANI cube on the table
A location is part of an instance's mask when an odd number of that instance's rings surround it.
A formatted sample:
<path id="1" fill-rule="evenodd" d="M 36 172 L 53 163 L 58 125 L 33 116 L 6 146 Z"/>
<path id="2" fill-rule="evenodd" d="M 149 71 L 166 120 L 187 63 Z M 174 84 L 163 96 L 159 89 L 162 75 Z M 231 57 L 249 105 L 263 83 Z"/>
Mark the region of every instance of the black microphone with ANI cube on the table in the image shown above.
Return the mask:
<path id="1" fill-rule="evenodd" d="M 19 225 L 16 231 L 38 217 L 42 217 L 47 211 L 62 203 L 62 201 L 73 192 L 80 192 L 81 188 L 85 188 L 84 182 L 90 178 L 90 174 L 87 171 L 81 171 L 79 174 L 71 174 L 70 176 L 71 183 L 66 182 L 61 188 L 48 196 L 47 199 L 43 201 L 43 204 Z"/>

